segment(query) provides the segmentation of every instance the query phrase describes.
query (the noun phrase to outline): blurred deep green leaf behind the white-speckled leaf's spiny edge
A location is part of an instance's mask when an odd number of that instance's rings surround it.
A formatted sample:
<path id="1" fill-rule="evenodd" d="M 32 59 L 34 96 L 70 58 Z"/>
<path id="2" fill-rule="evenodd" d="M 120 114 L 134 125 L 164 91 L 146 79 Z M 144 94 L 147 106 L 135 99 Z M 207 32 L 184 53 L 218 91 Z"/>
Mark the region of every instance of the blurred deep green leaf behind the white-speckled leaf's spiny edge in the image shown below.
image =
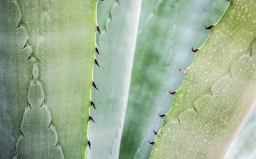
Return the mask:
<path id="1" fill-rule="evenodd" d="M 153 133 L 189 66 L 208 36 L 204 25 L 223 14 L 226 1 L 143 1 L 120 158 L 149 158 Z M 188 16 L 189 15 L 189 16 Z M 195 40 L 196 39 L 196 40 Z"/>

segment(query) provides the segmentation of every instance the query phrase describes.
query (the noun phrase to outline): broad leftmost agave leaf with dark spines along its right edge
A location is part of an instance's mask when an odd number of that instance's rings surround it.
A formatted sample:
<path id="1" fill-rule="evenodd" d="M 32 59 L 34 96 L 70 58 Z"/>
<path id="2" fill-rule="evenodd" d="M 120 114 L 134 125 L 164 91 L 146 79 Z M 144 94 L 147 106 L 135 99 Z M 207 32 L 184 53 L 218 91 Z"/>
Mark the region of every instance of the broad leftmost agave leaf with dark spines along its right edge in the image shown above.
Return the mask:
<path id="1" fill-rule="evenodd" d="M 96 1 L 1 1 L 1 16 L 1 158 L 84 158 Z"/>

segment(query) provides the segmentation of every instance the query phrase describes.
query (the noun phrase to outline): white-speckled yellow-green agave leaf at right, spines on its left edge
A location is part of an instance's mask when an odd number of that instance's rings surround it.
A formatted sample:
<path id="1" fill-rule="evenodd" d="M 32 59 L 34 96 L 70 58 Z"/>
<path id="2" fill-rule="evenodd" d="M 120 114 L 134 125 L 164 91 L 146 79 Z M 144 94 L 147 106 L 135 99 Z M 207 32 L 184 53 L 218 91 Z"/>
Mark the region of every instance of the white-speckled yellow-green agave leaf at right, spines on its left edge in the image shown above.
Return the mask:
<path id="1" fill-rule="evenodd" d="M 223 158 L 255 105 L 253 6 L 255 1 L 231 1 L 214 25 L 175 95 L 151 158 Z"/>

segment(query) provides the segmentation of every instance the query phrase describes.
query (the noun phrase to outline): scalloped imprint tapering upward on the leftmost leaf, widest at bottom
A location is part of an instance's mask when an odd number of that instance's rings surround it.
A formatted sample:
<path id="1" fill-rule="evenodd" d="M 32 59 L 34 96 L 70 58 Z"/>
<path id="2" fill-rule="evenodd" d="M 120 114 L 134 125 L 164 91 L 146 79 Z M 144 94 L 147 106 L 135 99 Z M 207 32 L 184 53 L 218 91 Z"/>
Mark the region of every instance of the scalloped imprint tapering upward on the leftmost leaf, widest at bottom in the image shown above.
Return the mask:
<path id="1" fill-rule="evenodd" d="M 45 104 L 45 93 L 43 90 L 43 86 L 40 83 L 39 70 L 38 70 L 38 57 L 36 56 L 36 52 L 33 50 L 33 46 L 28 42 L 28 32 L 26 25 L 22 21 L 22 13 L 21 8 L 18 5 L 18 1 L 12 1 L 16 4 L 18 8 L 18 12 L 21 14 L 19 18 L 18 25 L 16 29 L 23 28 L 26 32 L 27 39 L 22 47 L 22 49 L 30 48 L 29 57 L 27 62 L 32 62 L 33 70 L 32 70 L 32 79 L 30 81 L 29 89 L 28 89 L 28 107 L 24 111 L 23 121 L 21 123 L 21 134 L 22 136 L 18 138 L 16 143 L 16 153 L 17 155 L 14 158 L 41 158 L 41 155 L 49 155 L 52 153 L 57 153 L 57 158 L 64 158 L 64 154 L 62 152 L 61 146 L 57 143 L 57 131 L 54 126 L 50 124 L 51 116 L 50 110 L 48 106 Z M 42 37 L 38 40 L 38 45 L 43 40 Z M 35 51 L 37 48 L 35 49 Z M 43 119 L 43 121 L 42 121 Z M 43 122 L 43 125 L 41 125 Z M 41 138 L 41 133 L 45 132 L 45 136 Z M 52 140 L 53 138 L 53 140 Z M 39 141 L 39 143 L 38 143 Z M 46 141 L 46 142 L 45 142 Z M 46 148 L 44 150 L 40 150 L 38 152 L 38 148 L 36 146 L 31 146 L 30 143 L 37 143 L 38 145 Z M 47 145 L 48 146 L 45 146 Z M 25 149 L 24 149 L 25 148 Z M 45 153 L 45 151 L 50 151 L 49 153 Z M 39 153 L 39 154 L 38 154 Z M 41 153 L 41 154 L 40 154 Z M 42 154 L 43 153 L 43 154 Z M 56 156 L 45 156 L 46 158 L 56 158 Z"/>

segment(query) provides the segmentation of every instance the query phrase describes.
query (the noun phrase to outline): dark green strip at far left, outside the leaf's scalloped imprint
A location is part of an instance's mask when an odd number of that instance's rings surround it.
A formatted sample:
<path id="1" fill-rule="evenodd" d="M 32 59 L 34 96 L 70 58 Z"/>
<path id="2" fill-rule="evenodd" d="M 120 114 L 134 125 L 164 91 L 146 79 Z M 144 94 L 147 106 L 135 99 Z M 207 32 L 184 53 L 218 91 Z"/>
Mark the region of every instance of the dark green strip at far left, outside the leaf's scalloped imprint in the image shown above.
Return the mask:
<path id="1" fill-rule="evenodd" d="M 27 107 L 32 67 L 26 62 L 26 32 L 16 28 L 20 14 L 16 4 L 0 2 L 0 158 L 13 158 L 21 121 Z"/>

